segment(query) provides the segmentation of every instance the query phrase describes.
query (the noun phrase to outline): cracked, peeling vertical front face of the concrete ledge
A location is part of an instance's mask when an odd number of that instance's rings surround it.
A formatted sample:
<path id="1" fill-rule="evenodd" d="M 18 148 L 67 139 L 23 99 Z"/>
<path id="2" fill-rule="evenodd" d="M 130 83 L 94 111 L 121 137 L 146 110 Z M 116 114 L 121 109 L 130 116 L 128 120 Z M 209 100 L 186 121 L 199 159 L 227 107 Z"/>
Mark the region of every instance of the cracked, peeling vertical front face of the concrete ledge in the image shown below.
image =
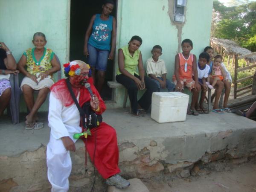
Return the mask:
<path id="1" fill-rule="evenodd" d="M 44 191 L 47 181 L 45 146 L 24 152 L 18 157 L 0 157 L 0 187 L 11 186 L 10 191 Z M 221 131 L 186 137 L 151 138 L 119 142 L 119 166 L 127 177 L 151 177 L 163 172 L 176 172 L 225 157 L 241 158 L 256 155 L 256 128 Z M 70 187 L 90 185 L 93 166 L 84 167 L 84 148 L 71 153 L 73 162 Z M 97 173 L 97 179 L 102 178 Z M 102 180 L 103 181 L 103 180 Z M 9 190 L 7 190 L 9 191 Z"/>

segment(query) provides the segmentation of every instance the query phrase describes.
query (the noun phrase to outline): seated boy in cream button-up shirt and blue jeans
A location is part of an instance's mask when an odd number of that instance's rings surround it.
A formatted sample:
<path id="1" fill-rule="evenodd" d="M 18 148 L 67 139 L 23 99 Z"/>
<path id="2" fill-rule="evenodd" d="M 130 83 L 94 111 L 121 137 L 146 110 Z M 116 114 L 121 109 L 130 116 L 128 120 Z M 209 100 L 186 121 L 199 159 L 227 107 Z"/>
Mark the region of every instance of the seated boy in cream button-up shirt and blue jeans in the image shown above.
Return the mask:
<path id="1" fill-rule="evenodd" d="M 151 50 L 152 57 L 148 58 L 146 65 L 146 72 L 148 76 L 157 84 L 158 90 L 168 89 L 168 91 L 175 90 L 175 84 L 166 78 L 167 69 L 163 59 L 160 59 L 162 55 L 162 47 L 155 45 Z"/>

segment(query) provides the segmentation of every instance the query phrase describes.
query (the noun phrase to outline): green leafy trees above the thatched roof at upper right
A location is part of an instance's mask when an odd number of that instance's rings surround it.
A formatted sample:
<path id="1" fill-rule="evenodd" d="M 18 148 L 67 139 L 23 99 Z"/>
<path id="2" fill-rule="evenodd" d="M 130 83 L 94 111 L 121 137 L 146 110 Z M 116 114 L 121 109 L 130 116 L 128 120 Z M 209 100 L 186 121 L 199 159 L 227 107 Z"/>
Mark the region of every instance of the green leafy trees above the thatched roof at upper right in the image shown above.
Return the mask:
<path id="1" fill-rule="evenodd" d="M 256 51 L 256 2 L 233 0 L 235 6 L 213 1 L 211 36 L 236 41 L 241 47 Z"/>

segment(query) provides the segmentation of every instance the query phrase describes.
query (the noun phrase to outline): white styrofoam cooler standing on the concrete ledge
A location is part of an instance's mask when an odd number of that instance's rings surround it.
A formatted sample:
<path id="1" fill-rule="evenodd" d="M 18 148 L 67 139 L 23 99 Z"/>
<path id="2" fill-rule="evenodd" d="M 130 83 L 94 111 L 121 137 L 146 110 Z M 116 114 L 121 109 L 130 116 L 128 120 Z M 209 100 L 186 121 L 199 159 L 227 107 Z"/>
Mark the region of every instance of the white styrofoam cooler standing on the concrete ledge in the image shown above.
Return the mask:
<path id="1" fill-rule="evenodd" d="M 159 123 L 186 120 L 189 95 L 180 92 L 152 94 L 151 118 Z"/>

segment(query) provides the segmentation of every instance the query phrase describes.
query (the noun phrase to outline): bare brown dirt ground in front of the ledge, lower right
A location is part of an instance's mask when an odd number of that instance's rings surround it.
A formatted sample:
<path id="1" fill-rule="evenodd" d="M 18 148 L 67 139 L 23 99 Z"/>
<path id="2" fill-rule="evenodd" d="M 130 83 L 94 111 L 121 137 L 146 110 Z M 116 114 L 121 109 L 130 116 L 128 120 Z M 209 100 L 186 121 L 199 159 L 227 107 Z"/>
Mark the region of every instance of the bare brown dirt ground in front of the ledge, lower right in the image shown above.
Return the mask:
<path id="1" fill-rule="evenodd" d="M 256 160 L 213 163 L 194 176 L 179 177 L 154 177 L 143 183 L 150 192 L 256 192 Z"/>

